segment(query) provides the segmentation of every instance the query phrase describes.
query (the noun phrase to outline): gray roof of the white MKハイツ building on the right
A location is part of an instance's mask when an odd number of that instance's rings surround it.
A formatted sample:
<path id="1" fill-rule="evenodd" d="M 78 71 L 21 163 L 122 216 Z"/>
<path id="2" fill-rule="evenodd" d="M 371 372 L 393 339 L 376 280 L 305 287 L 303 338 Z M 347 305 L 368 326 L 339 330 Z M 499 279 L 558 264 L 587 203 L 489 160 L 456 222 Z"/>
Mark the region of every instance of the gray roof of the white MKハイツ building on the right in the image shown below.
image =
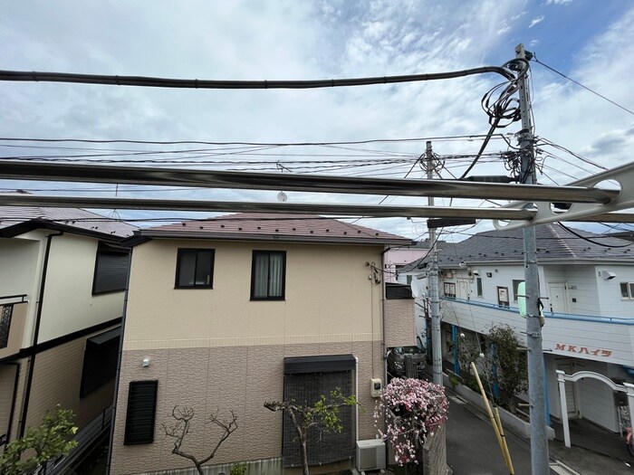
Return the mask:
<path id="1" fill-rule="evenodd" d="M 573 229 L 572 232 L 566 231 L 556 223 L 536 226 L 537 260 L 539 262 L 634 261 L 634 243 L 632 242 L 577 229 Z M 521 229 L 477 233 L 462 242 L 446 243 L 438 252 L 440 268 L 455 268 L 460 262 L 502 264 L 522 261 L 524 261 L 524 235 Z M 421 270 L 427 266 L 427 262 L 427 257 L 411 262 L 408 264 L 408 271 Z"/>

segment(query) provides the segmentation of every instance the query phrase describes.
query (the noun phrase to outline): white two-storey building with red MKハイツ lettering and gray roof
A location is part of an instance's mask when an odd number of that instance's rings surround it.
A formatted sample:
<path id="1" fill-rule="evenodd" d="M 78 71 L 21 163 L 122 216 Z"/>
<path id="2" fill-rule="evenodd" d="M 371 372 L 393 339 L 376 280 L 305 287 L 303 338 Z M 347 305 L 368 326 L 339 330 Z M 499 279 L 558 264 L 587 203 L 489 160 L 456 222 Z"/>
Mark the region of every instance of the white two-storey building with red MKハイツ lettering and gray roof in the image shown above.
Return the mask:
<path id="1" fill-rule="evenodd" d="M 634 246 L 631 242 L 557 224 L 535 228 L 543 302 L 543 356 L 550 413 L 560 418 L 555 370 L 585 370 L 615 382 L 634 382 Z M 478 233 L 439 256 L 443 356 L 460 371 L 460 335 L 480 338 L 493 325 L 513 327 L 525 341 L 517 309 L 524 280 L 522 230 Z M 566 383 L 570 417 L 619 431 L 612 390 L 597 379 Z"/>

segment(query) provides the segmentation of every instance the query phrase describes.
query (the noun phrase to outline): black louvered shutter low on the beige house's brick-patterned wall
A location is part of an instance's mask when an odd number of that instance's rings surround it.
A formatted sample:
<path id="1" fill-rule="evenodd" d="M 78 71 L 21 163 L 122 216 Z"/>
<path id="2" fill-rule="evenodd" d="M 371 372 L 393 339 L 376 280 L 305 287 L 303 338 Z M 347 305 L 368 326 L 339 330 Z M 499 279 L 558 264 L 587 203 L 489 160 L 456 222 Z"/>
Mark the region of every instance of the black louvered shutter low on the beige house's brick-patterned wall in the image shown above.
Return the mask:
<path id="1" fill-rule="evenodd" d="M 159 381 L 132 381 L 128 394 L 128 413 L 124 445 L 154 442 Z"/>

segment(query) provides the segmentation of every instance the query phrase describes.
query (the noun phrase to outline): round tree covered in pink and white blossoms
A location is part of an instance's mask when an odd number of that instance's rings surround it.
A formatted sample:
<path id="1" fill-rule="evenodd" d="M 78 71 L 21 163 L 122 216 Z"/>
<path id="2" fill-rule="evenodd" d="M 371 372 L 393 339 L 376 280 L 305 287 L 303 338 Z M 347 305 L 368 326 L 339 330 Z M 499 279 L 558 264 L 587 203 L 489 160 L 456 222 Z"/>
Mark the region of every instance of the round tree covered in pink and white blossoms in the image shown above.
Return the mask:
<path id="1" fill-rule="evenodd" d="M 418 463 L 418 451 L 447 421 L 447 396 L 442 386 L 422 379 L 393 379 L 381 393 L 375 420 L 385 414 L 387 429 L 379 430 L 392 443 L 394 460 Z"/>

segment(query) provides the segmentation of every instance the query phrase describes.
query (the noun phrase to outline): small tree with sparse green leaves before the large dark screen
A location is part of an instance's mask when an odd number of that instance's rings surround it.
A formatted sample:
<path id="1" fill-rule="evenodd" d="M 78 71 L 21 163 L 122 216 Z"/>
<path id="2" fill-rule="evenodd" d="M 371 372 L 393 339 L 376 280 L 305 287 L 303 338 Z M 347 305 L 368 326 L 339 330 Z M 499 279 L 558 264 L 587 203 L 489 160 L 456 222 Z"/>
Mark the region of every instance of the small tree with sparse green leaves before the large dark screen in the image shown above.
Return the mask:
<path id="1" fill-rule="evenodd" d="M 322 394 L 315 404 L 296 404 L 294 401 L 273 401 L 264 403 L 264 407 L 271 411 L 288 413 L 293 422 L 297 439 L 300 442 L 303 475 L 310 475 L 308 470 L 308 430 L 318 427 L 322 432 L 341 432 L 343 424 L 339 416 L 341 407 L 356 405 L 357 398 L 352 394 L 344 396 L 339 388 L 331 391 L 327 398 Z"/>

